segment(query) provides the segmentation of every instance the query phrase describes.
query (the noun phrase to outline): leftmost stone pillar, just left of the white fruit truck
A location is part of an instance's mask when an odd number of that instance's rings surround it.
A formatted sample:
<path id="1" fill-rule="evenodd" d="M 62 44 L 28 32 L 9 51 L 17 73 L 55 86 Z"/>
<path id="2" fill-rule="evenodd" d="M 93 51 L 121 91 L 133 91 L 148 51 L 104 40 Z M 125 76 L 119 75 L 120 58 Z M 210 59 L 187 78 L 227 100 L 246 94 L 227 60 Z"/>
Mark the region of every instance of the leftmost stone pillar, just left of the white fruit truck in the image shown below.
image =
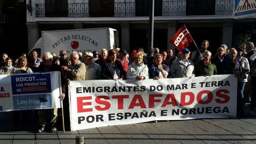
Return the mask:
<path id="1" fill-rule="evenodd" d="M 38 23 L 36 22 L 27 22 L 28 28 L 28 49 L 29 51 L 33 48 L 38 38 Z"/>

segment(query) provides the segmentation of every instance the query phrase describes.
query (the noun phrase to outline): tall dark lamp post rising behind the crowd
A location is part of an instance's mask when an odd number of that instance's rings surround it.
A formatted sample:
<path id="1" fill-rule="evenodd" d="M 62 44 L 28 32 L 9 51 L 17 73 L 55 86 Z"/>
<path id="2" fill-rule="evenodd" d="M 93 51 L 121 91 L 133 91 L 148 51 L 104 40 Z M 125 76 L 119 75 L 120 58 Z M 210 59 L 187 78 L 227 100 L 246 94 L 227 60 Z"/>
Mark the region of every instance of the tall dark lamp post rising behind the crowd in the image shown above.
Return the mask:
<path id="1" fill-rule="evenodd" d="M 150 0 L 150 16 L 149 16 L 149 36 L 148 36 L 148 56 L 153 56 L 153 38 L 154 38 L 154 0 Z"/>

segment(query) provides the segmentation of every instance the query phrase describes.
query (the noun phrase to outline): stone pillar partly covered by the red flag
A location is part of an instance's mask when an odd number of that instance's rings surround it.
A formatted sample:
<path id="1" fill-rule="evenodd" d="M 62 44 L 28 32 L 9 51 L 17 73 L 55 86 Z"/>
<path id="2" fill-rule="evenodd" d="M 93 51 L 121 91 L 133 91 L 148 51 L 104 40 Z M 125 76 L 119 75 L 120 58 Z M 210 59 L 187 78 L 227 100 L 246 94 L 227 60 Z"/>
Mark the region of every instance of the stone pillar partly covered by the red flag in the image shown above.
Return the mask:
<path id="1" fill-rule="evenodd" d="M 176 22 L 168 22 L 167 23 L 167 27 L 168 27 L 168 34 L 167 34 L 167 49 L 166 51 L 168 51 L 168 49 L 172 49 L 173 50 L 173 55 L 176 55 L 175 53 L 175 47 L 169 42 L 170 39 L 173 37 L 173 35 L 175 35 L 176 33 Z"/>

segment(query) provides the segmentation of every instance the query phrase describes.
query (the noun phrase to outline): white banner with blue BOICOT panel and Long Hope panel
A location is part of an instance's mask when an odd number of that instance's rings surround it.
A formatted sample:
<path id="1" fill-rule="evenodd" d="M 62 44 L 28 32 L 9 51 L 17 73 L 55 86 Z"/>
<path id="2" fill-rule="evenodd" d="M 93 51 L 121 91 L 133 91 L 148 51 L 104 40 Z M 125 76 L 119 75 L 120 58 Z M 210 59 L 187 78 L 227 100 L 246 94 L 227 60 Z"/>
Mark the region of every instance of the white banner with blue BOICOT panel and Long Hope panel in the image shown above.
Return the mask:
<path id="1" fill-rule="evenodd" d="M 0 112 L 60 108 L 60 72 L 0 75 Z"/>

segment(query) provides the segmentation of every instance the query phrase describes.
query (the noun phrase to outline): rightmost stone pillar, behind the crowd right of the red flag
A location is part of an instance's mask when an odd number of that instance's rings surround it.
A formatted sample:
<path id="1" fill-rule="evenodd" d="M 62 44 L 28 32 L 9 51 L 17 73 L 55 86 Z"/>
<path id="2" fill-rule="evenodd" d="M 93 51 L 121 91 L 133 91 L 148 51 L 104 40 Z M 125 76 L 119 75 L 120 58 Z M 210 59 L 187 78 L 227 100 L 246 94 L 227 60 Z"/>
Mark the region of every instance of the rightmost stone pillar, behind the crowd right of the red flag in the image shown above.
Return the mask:
<path id="1" fill-rule="evenodd" d="M 232 48 L 233 20 L 224 21 L 222 25 L 222 43 L 227 45 L 228 49 Z"/>

